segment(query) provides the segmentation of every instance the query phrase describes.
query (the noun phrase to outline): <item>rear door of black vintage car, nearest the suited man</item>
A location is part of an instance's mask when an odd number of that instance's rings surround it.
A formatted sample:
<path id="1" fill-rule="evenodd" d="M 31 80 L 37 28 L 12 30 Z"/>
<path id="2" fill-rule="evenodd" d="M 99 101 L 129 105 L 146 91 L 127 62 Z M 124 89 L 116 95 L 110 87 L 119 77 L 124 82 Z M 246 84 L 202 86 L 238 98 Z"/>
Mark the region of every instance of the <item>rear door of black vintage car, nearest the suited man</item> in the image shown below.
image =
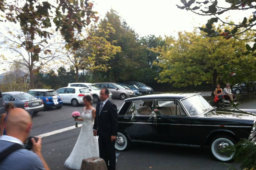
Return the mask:
<path id="1" fill-rule="evenodd" d="M 128 104 L 124 106 L 126 111 L 122 109 L 123 113 L 118 115 L 118 126 L 129 134 L 133 141 L 152 141 L 153 124 L 149 117 L 152 113 L 153 100 L 132 101 Z"/>

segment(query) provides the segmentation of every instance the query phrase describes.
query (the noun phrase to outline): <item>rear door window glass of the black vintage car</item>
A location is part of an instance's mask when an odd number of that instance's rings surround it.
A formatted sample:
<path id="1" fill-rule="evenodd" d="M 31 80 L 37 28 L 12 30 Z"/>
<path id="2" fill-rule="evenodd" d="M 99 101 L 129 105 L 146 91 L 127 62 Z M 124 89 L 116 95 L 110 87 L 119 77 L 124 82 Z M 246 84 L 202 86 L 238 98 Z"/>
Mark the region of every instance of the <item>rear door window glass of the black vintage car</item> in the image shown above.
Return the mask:
<path id="1" fill-rule="evenodd" d="M 141 116 L 150 115 L 152 113 L 152 105 L 153 105 L 153 100 L 133 101 L 133 103 L 131 104 L 127 112 L 127 115 L 131 115 L 132 113 L 135 113 L 135 115 L 139 114 Z"/>

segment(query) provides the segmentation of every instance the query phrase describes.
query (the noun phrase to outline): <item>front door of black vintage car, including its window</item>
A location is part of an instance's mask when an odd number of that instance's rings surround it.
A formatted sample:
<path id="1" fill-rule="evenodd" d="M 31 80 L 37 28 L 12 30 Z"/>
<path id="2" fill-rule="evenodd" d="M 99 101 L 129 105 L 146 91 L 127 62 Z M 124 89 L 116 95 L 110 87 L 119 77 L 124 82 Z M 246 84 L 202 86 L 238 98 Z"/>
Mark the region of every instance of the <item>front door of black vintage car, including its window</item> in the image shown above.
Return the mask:
<path id="1" fill-rule="evenodd" d="M 178 100 L 155 100 L 157 117 L 152 119 L 154 141 L 175 144 L 189 144 L 191 121 Z"/>

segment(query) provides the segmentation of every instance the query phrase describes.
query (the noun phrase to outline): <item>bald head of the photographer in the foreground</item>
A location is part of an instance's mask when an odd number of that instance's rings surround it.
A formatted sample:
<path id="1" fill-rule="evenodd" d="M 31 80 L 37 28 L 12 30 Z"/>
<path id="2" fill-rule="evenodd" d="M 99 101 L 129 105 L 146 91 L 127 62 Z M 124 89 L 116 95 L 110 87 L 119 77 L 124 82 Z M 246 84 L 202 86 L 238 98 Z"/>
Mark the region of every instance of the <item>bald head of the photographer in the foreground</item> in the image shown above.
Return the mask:
<path id="1" fill-rule="evenodd" d="M 23 143 L 29 136 L 32 126 L 30 114 L 21 108 L 15 108 L 8 113 L 5 129 L 8 136 L 18 138 Z"/>

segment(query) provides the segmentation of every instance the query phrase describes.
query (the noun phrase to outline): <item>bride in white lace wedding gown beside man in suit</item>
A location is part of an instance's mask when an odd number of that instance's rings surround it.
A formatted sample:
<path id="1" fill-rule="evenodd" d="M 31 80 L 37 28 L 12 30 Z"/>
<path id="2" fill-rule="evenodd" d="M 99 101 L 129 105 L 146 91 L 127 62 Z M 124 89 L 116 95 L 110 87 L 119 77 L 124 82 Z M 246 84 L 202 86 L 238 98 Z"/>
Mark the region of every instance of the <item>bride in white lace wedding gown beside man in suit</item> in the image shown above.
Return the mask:
<path id="1" fill-rule="evenodd" d="M 98 139 L 92 133 L 96 110 L 91 106 L 91 101 L 91 96 L 83 97 L 85 107 L 82 118 L 77 118 L 77 121 L 83 121 L 82 128 L 73 151 L 65 161 L 65 165 L 71 169 L 81 169 L 83 159 L 99 157 Z"/>

